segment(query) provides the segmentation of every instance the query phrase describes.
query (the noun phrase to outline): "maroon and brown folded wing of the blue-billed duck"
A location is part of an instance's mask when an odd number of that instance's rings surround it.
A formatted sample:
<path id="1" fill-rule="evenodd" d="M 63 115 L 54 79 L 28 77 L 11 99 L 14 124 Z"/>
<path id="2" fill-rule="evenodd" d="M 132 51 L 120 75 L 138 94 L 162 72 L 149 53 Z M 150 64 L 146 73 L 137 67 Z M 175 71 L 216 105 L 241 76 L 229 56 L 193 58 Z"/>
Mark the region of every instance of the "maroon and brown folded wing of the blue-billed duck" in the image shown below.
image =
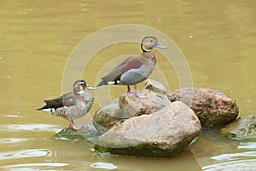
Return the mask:
<path id="1" fill-rule="evenodd" d="M 108 82 L 117 82 L 126 71 L 137 69 L 143 65 L 143 57 L 140 55 L 131 56 L 116 66 L 107 76 L 102 77 L 102 82 L 97 86 L 108 85 Z"/>

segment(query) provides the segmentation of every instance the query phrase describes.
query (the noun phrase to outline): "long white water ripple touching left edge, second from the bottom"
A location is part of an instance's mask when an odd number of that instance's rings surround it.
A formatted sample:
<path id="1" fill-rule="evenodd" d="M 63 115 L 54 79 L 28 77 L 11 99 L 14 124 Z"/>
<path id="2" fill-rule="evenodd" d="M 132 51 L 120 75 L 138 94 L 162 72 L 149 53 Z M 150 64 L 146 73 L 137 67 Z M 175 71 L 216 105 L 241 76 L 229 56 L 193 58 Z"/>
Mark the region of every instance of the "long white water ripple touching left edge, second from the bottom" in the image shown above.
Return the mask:
<path id="1" fill-rule="evenodd" d="M 49 155 L 49 151 L 46 149 L 30 149 L 20 151 L 5 151 L 0 152 L 0 161 L 16 158 L 27 158 L 27 157 L 44 157 Z"/>

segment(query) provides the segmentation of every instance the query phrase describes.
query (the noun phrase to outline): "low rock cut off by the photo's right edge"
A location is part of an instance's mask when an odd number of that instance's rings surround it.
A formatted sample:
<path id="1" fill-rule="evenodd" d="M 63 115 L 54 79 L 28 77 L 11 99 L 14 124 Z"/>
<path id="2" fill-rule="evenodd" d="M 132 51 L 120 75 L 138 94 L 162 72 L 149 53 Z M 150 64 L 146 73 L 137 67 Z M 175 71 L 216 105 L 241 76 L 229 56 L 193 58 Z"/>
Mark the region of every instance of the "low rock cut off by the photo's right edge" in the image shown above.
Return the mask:
<path id="1" fill-rule="evenodd" d="M 220 134 L 236 140 L 256 139 L 256 117 L 252 115 L 240 117 L 234 123 L 222 128 Z"/>

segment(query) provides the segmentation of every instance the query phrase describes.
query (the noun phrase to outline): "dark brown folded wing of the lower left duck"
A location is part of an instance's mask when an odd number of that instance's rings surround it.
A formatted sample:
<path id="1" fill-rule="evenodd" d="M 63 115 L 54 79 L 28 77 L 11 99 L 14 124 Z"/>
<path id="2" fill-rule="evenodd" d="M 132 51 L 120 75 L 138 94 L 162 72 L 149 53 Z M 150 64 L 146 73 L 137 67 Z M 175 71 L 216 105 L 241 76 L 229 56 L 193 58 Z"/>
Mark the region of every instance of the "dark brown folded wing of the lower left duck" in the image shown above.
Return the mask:
<path id="1" fill-rule="evenodd" d="M 68 94 L 64 94 L 59 98 L 56 99 L 52 99 L 52 100 L 44 100 L 44 102 L 46 103 L 46 105 L 44 105 L 43 107 L 39 108 L 38 110 L 44 110 L 44 109 L 49 109 L 49 108 L 60 108 L 63 106 L 72 106 L 76 104 L 76 98 L 75 98 L 75 94 L 73 93 L 68 93 Z"/>

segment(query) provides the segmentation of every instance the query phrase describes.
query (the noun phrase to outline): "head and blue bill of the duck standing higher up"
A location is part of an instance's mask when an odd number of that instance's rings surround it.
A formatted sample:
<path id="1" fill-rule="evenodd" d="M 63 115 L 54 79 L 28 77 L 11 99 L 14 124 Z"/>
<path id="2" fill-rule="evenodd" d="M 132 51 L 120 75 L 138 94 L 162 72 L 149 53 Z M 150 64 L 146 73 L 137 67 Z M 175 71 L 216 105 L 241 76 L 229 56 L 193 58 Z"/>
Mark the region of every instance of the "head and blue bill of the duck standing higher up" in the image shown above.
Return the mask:
<path id="1" fill-rule="evenodd" d="M 141 47 L 142 47 L 143 52 L 150 52 L 152 50 L 152 48 L 166 49 L 165 46 L 158 43 L 158 41 L 155 37 L 144 37 L 143 41 L 141 43 Z"/>

